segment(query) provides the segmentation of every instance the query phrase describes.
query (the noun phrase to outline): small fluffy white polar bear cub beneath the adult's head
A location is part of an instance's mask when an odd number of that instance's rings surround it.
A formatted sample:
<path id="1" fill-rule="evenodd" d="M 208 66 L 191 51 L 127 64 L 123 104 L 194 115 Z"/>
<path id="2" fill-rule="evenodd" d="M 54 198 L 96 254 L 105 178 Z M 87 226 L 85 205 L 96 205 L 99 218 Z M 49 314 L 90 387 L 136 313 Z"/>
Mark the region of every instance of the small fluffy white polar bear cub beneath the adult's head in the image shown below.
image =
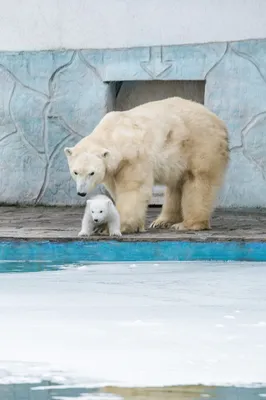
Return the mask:
<path id="1" fill-rule="evenodd" d="M 79 236 L 90 236 L 95 228 L 104 224 L 110 236 L 121 236 L 120 216 L 114 203 L 105 195 L 97 195 L 87 200 Z"/>

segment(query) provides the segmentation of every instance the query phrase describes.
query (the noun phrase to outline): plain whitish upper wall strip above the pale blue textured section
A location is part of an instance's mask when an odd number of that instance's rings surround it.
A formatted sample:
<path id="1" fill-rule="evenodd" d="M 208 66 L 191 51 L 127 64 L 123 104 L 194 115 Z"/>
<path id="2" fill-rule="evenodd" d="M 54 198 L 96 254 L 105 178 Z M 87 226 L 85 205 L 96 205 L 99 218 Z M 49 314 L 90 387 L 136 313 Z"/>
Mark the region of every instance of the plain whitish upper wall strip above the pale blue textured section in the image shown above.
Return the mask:
<path id="1" fill-rule="evenodd" d="M 265 15 L 265 0 L 2 0 L 0 51 L 259 39 Z"/>

